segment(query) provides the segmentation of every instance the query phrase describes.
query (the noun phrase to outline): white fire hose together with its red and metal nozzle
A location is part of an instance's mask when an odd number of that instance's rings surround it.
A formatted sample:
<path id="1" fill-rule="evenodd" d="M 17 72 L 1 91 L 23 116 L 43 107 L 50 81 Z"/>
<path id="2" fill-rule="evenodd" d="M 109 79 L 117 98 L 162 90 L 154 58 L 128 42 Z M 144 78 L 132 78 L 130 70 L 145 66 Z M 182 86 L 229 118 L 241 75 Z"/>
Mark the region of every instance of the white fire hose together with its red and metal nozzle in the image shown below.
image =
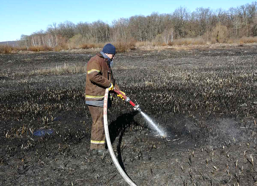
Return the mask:
<path id="1" fill-rule="evenodd" d="M 115 93 L 122 94 L 119 90 L 115 89 L 113 90 Z M 108 120 L 107 120 L 107 101 L 108 101 L 108 94 L 109 94 L 109 89 L 105 89 L 105 94 L 104 94 L 104 132 L 105 132 L 105 138 L 106 138 L 106 143 L 109 149 L 109 153 L 111 155 L 111 158 L 114 162 L 114 165 L 116 166 L 117 170 L 120 172 L 120 175 L 124 178 L 124 180 L 128 183 L 130 186 L 137 186 L 129 177 L 128 175 L 124 172 L 124 170 L 121 168 L 118 160 L 116 159 L 116 156 L 113 152 L 113 147 L 111 144 L 110 136 L 109 136 L 109 130 L 108 130 Z M 123 98 L 126 102 L 129 102 L 133 107 L 134 110 L 141 112 L 140 106 L 135 103 L 133 103 L 130 98 L 124 94 Z"/>

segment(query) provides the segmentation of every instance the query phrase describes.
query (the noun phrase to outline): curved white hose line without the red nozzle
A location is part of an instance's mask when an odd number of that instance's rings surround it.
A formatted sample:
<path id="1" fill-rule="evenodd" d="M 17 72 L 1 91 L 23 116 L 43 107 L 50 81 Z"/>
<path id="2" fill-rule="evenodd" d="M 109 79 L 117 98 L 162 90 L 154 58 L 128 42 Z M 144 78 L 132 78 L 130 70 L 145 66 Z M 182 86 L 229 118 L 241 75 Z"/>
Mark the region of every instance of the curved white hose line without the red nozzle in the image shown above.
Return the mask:
<path id="1" fill-rule="evenodd" d="M 111 154 L 112 160 L 114 162 L 114 165 L 116 166 L 116 168 L 118 169 L 118 171 L 120 172 L 120 175 L 124 178 L 124 180 L 128 183 L 128 185 L 130 186 L 137 186 L 127 175 L 126 173 L 123 171 L 123 169 L 121 168 L 118 160 L 116 159 L 116 156 L 113 152 L 113 147 L 111 144 L 111 140 L 110 140 L 110 136 L 109 136 L 109 130 L 108 130 L 108 120 L 107 120 L 107 100 L 108 100 L 108 93 L 109 93 L 109 89 L 105 89 L 105 94 L 104 94 L 104 132 L 105 132 L 105 138 L 106 138 L 106 142 L 107 142 L 107 146 L 109 149 L 109 152 Z"/>

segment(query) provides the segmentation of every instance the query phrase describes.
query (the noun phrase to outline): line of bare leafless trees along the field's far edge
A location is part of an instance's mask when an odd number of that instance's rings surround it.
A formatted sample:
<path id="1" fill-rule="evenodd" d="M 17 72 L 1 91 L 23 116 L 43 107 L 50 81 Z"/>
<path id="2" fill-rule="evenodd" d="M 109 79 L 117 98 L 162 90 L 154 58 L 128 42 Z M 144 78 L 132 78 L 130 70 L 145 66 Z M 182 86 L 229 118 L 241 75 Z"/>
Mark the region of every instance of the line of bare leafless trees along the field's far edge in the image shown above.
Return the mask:
<path id="1" fill-rule="evenodd" d="M 76 47 L 83 43 L 118 41 L 146 41 L 168 44 L 173 39 L 201 38 L 213 42 L 257 36 L 257 2 L 236 8 L 196 8 L 190 12 L 180 6 L 173 13 L 135 15 L 120 18 L 107 24 L 102 20 L 92 23 L 71 21 L 53 23 L 46 30 L 31 35 L 21 35 L 20 44 L 26 46 L 56 47 L 69 44 Z"/>

